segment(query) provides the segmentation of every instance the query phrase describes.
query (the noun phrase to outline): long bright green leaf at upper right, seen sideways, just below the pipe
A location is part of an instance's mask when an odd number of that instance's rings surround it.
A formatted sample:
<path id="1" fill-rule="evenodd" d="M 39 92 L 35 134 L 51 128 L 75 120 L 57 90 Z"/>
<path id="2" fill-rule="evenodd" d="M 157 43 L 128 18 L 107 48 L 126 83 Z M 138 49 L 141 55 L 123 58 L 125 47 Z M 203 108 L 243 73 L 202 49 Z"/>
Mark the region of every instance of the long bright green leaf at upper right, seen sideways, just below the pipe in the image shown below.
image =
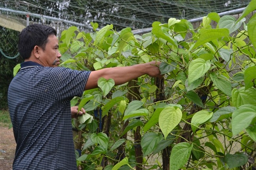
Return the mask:
<path id="1" fill-rule="evenodd" d="M 228 36 L 229 36 L 229 31 L 226 28 L 209 29 L 209 30 L 201 31 L 198 41 L 196 41 L 196 44 L 193 46 L 193 49 L 205 44 L 206 42 L 216 40 L 220 37 L 228 37 Z"/>

